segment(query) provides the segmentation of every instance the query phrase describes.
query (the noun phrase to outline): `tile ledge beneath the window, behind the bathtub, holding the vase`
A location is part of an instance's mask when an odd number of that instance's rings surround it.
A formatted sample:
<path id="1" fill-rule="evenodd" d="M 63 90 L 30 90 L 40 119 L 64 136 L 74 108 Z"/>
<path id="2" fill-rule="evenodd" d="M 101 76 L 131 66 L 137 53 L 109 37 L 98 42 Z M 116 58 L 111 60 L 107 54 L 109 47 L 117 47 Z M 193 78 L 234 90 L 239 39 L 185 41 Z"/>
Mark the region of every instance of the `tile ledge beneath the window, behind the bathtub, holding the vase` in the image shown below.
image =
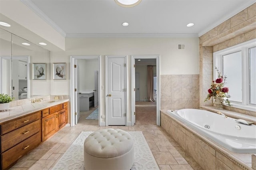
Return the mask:
<path id="1" fill-rule="evenodd" d="M 220 111 L 221 113 L 224 113 L 228 117 L 232 117 L 235 119 L 244 119 L 246 121 L 250 121 L 250 122 L 253 122 L 254 124 L 256 124 L 255 116 L 246 115 L 244 113 L 238 113 L 238 112 L 229 111 L 229 110 L 225 110 L 225 109 L 224 110 L 214 109 L 213 106 L 200 106 L 200 109 L 211 111 L 214 113 L 217 113 L 218 111 Z"/>

